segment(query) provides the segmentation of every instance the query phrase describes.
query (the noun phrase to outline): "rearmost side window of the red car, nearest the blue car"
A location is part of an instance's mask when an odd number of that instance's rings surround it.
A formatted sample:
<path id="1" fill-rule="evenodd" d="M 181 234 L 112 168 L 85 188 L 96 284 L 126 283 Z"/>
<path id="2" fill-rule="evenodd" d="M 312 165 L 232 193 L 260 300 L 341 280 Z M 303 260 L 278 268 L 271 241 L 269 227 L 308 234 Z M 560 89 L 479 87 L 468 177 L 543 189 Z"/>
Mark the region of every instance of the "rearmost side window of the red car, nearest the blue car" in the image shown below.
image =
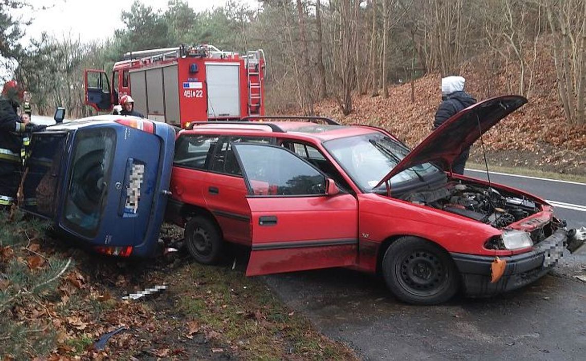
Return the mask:
<path id="1" fill-rule="evenodd" d="M 218 136 L 215 135 L 182 135 L 175 144 L 175 159 L 173 165 L 178 167 L 207 169 L 212 162 L 212 156 Z"/>

